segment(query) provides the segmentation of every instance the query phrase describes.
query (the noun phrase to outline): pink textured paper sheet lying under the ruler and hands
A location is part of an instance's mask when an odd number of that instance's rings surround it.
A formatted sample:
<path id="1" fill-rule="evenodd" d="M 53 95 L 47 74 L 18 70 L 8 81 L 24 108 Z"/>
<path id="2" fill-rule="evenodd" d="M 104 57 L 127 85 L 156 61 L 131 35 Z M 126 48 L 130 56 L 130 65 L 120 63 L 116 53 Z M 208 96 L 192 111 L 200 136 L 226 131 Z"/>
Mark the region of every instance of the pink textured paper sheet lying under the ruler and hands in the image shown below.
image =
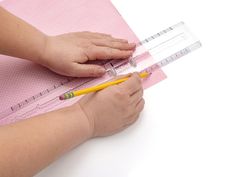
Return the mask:
<path id="1" fill-rule="evenodd" d="M 109 0 L 5 0 L 0 5 L 49 35 L 94 31 L 126 38 L 132 42 L 139 41 Z M 164 78 L 164 73 L 157 70 L 151 78 L 144 81 L 144 86 L 151 86 Z M 0 125 L 70 105 L 77 101 L 78 99 L 74 99 L 62 103 L 55 98 L 63 90 L 74 88 L 79 80 L 65 84 L 54 94 L 37 100 L 34 106 L 26 106 L 24 110 L 19 109 L 9 115 L 6 114 L 13 105 L 17 105 L 55 84 L 64 82 L 66 79 L 66 77 L 59 76 L 34 63 L 0 55 Z M 93 84 L 102 82 L 103 79 L 105 80 L 107 77 L 97 79 Z M 83 87 L 86 86 L 89 84 Z M 45 106 L 40 107 L 39 105 Z"/>

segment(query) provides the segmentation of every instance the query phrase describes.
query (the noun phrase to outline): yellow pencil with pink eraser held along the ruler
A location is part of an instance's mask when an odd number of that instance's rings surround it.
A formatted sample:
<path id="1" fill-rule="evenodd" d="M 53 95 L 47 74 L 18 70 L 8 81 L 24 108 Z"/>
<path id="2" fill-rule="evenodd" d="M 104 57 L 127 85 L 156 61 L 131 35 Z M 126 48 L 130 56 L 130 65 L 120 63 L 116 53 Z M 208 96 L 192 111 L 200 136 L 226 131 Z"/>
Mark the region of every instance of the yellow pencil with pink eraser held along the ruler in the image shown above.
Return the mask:
<path id="1" fill-rule="evenodd" d="M 148 72 L 139 73 L 139 77 L 140 78 L 146 78 L 148 76 L 149 76 Z M 97 86 L 94 86 L 94 87 L 90 87 L 90 88 L 86 88 L 86 89 L 83 89 L 83 90 L 76 90 L 76 91 L 73 91 L 73 92 L 65 93 L 65 94 L 61 95 L 59 97 L 59 99 L 60 100 L 66 100 L 66 99 L 70 99 L 70 98 L 73 98 L 73 97 L 76 97 L 76 96 L 80 96 L 80 95 L 83 95 L 83 94 L 87 94 L 87 93 L 91 93 L 91 92 L 96 92 L 96 91 L 105 89 L 105 88 L 107 88 L 109 86 L 120 84 L 120 83 L 122 83 L 124 81 L 127 81 L 129 79 L 129 77 L 130 76 L 125 77 L 125 78 L 121 78 L 121 79 L 118 79 L 118 80 L 115 80 L 115 81 L 106 82 L 104 84 L 100 84 L 100 85 L 97 85 Z"/>

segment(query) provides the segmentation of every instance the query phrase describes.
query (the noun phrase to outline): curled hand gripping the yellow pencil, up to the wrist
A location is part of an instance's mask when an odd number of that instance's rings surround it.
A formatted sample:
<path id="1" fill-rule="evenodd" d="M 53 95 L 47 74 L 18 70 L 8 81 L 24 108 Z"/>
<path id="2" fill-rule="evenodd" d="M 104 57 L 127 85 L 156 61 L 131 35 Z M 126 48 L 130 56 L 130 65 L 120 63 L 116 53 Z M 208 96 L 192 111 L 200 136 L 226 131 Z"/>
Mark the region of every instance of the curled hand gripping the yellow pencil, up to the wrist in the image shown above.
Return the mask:
<path id="1" fill-rule="evenodd" d="M 127 81 L 84 96 L 77 103 L 88 119 L 91 137 L 108 136 L 134 123 L 144 108 L 138 74 Z"/>

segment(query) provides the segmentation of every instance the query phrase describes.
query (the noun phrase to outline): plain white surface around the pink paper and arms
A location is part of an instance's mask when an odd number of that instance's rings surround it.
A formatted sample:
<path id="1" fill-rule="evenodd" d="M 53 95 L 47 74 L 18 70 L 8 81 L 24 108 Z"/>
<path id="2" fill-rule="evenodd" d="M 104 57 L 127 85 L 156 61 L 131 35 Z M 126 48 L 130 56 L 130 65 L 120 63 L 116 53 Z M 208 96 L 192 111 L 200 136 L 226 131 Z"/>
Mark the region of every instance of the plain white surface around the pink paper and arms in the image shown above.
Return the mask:
<path id="1" fill-rule="evenodd" d="M 203 47 L 164 68 L 141 119 L 80 146 L 37 177 L 236 176 L 233 0 L 114 0 L 140 38 L 184 21 Z"/>

